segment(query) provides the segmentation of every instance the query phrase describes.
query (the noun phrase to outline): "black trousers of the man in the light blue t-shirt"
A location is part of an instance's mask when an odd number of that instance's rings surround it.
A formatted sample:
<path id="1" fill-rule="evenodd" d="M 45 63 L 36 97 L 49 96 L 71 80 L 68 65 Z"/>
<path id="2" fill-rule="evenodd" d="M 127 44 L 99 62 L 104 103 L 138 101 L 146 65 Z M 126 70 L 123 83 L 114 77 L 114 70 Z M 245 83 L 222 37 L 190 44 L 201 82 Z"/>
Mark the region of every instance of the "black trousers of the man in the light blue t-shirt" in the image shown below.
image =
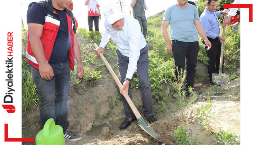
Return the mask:
<path id="1" fill-rule="evenodd" d="M 199 43 L 195 42 L 182 42 L 178 40 L 172 40 L 173 58 L 175 68 L 178 67 L 184 70 L 186 61 L 186 87 L 194 86 L 195 67 L 197 63 L 197 55 L 199 52 Z M 178 71 L 175 69 L 175 76 L 178 77 Z"/>

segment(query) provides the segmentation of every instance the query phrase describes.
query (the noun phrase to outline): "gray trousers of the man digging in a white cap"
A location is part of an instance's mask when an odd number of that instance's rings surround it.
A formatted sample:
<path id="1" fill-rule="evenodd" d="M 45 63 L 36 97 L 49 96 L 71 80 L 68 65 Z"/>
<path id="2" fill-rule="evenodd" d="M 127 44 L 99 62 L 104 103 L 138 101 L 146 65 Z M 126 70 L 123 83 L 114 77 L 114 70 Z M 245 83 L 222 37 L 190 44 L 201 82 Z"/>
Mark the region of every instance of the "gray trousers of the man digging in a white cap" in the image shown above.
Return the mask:
<path id="1" fill-rule="evenodd" d="M 123 84 L 125 81 L 127 68 L 129 64 L 129 57 L 126 57 L 121 54 L 121 52 L 117 49 L 117 61 L 118 61 L 118 68 L 121 77 L 121 83 Z M 139 89 L 142 97 L 142 103 L 145 108 L 144 115 L 145 116 L 152 116 L 153 109 L 152 109 L 152 93 L 151 87 L 148 78 L 148 46 L 144 47 L 140 50 L 139 60 L 137 62 L 137 73 L 139 78 Z M 131 85 L 129 85 L 128 95 L 132 99 L 131 96 Z M 132 112 L 129 104 L 127 103 L 124 96 L 122 96 L 122 102 L 124 104 L 125 115 L 126 118 L 134 118 L 135 115 Z"/>

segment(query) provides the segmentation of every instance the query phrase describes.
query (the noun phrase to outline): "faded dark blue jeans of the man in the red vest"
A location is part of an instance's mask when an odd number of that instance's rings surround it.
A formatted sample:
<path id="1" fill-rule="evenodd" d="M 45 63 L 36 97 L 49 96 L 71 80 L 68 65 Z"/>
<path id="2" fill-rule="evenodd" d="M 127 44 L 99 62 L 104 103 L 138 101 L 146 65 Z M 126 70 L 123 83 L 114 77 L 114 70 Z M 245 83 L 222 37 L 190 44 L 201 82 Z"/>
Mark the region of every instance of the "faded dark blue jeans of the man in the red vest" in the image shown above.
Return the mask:
<path id="1" fill-rule="evenodd" d="M 52 80 L 42 79 L 39 70 L 30 65 L 32 78 L 39 94 L 39 112 L 41 127 L 49 118 L 53 118 L 56 125 L 63 131 L 68 128 L 67 95 L 69 89 L 70 69 L 68 61 L 50 63 L 53 68 Z"/>

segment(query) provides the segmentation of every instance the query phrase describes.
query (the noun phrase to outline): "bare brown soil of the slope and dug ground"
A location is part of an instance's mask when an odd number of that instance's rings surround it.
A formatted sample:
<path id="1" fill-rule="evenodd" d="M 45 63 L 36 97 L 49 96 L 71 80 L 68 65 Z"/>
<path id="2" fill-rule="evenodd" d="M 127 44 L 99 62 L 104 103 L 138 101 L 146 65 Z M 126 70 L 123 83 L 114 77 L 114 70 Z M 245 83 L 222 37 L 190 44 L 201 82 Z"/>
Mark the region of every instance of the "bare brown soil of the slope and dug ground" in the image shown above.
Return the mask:
<path id="1" fill-rule="evenodd" d="M 91 48 L 92 49 L 92 48 Z M 92 51 L 92 50 L 91 50 Z M 108 53 L 106 51 L 106 53 Z M 101 59 L 97 59 L 98 62 Z M 110 61 L 113 66 L 117 61 Z M 94 68 L 91 67 L 91 70 Z M 118 70 L 114 69 L 116 74 Z M 204 73 L 203 71 L 201 71 Z M 109 106 L 113 104 L 118 95 L 118 87 L 109 72 L 102 70 L 104 76 L 94 86 L 88 86 L 83 80 L 81 83 L 74 85 L 70 89 L 68 98 L 68 120 L 70 122 L 69 129 L 75 134 L 80 135 L 82 140 L 76 142 L 66 141 L 68 145 L 144 145 L 144 144 L 162 144 L 152 137 L 148 136 L 137 124 L 135 120 L 127 129 L 120 131 L 119 125 L 124 121 L 124 108 L 121 100 L 117 100 L 117 105 L 113 109 Z M 196 82 L 196 81 L 195 81 Z M 202 82 L 200 82 L 202 83 Z M 201 90 L 207 92 L 211 89 L 212 84 L 204 81 Z M 163 87 L 164 88 L 164 87 Z M 183 126 L 191 132 L 192 138 L 202 144 L 215 144 L 214 134 L 207 130 L 202 130 L 198 122 L 194 120 L 196 109 L 201 105 L 212 105 L 215 117 L 210 120 L 210 126 L 215 132 L 220 130 L 228 131 L 238 135 L 240 140 L 240 80 L 233 80 L 224 86 L 220 86 L 226 90 L 225 94 L 220 97 L 210 96 L 204 93 L 200 98 L 183 113 Z M 133 93 L 135 104 L 141 104 L 140 93 L 138 90 Z M 136 106 L 137 106 L 136 105 Z M 102 115 L 111 110 L 111 114 L 102 119 Z M 143 114 L 143 112 L 141 112 Z M 148 124 L 143 116 L 145 123 L 149 128 L 154 129 L 165 145 L 177 144 L 173 138 L 173 132 L 180 125 L 180 114 L 172 107 L 167 108 L 165 113 L 156 114 L 158 121 Z M 91 131 L 86 131 L 86 126 L 92 123 Z M 104 128 L 105 127 L 105 128 Z M 106 131 L 102 133 L 102 129 Z M 39 110 L 34 107 L 29 113 L 22 117 L 22 137 L 35 137 L 40 131 Z M 103 135 L 102 135 L 102 134 Z M 31 142 L 22 142 L 22 144 L 35 144 Z"/>

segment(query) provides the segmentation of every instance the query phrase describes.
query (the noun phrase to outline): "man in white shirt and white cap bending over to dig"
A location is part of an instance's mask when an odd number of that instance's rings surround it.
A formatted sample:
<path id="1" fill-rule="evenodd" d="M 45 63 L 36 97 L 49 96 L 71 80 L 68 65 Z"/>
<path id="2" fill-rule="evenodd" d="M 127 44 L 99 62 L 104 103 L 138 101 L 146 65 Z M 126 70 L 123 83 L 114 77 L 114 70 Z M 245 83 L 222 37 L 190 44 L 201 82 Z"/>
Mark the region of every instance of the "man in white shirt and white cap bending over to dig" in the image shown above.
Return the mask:
<path id="1" fill-rule="evenodd" d="M 104 26 L 106 28 L 102 35 L 101 43 L 95 50 L 97 55 L 104 54 L 104 47 L 110 37 L 117 45 L 118 68 L 123 84 L 120 92 L 126 90 L 131 97 L 130 81 L 137 70 L 142 103 L 145 108 L 144 115 L 149 123 L 157 121 L 153 115 L 152 92 L 148 78 L 148 46 L 145 38 L 140 31 L 139 22 L 129 16 L 124 16 L 117 6 L 108 6 L 104 8 L 106 18 Z M 121 124 L 120 129 L 127 128 L 132 121 L 136 120 L 129 104 L 122 96 L 126 119 Z"/>

